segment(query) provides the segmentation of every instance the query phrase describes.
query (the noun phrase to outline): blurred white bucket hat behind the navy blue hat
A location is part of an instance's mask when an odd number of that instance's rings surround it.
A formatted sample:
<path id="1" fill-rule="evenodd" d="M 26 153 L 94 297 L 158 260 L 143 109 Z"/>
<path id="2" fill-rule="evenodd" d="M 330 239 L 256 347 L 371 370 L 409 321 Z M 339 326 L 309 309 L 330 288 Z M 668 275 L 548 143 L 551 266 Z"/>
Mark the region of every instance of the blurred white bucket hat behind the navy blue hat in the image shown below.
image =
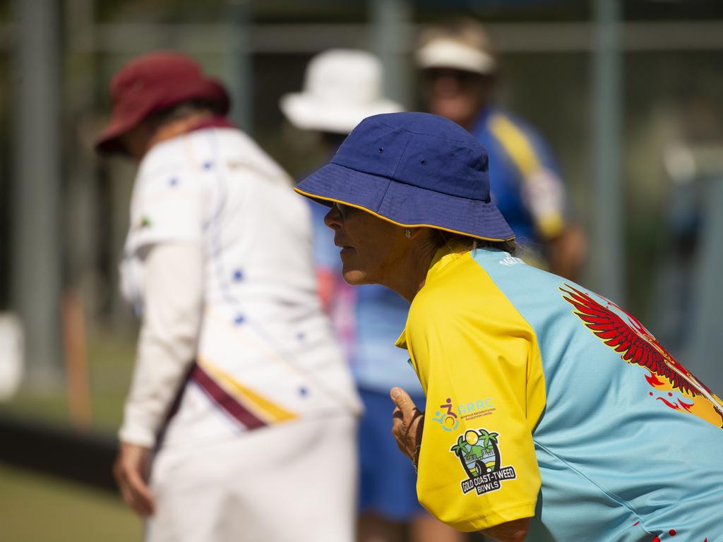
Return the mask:
<path id="1" fill-rule="evenodd" d="M 338 134 L 348 134 L 368 116 L 403 110 L 382 96 L 377 57 L 354 49 L 330 49 L 311 59 L 304 90 L 283 95 L 280 106 L 297 128 Z"/>

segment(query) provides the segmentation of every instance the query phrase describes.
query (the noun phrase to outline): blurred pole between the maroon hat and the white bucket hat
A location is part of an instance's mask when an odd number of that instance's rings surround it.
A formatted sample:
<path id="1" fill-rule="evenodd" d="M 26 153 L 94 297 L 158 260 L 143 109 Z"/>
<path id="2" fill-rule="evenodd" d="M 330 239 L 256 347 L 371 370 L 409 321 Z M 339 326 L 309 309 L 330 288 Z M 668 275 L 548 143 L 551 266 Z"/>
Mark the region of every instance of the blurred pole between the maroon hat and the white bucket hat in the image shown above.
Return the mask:
<path id="1" fill-rule="evenodd" d="M 253 85 L 251 51 L 251 0 L 229 0 L 228 47 L 231 120 L 247 134 L 253 132 Z"/>

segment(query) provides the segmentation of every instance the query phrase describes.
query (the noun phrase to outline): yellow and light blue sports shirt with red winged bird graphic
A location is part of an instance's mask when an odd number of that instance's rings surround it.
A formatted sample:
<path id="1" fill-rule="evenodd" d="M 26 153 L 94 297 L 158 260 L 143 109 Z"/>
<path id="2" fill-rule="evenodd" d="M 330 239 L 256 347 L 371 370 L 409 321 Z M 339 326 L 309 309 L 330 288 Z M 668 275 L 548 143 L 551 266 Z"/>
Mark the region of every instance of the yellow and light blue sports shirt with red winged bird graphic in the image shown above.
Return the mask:
<path id="1" fill-rule="evenodd" d="M 611 301 L 495 249 L 437 252 L 406 346 L 417 494 L 529 540 L 723 540 L 723 403 Z"/>

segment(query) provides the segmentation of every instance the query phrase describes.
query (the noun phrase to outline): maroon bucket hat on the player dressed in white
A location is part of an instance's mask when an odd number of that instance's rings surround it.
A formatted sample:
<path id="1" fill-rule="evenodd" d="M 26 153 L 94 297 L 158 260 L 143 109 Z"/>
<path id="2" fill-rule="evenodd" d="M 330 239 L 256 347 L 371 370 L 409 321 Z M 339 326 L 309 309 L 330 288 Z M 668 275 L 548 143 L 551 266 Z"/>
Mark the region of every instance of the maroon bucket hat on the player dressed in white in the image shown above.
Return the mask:
<path id="1" fill-rule="evenodd" d="M 151 113 L 186 100 L 204 100 L 225 115 L 228 93 L 214 79 L 204 77 L 200 66 L 179 53 L 150 53 L 125 64 L 111 79 L 113 112 L 95 139 L 98 152 L 125 152 L 119 137 Z"/>

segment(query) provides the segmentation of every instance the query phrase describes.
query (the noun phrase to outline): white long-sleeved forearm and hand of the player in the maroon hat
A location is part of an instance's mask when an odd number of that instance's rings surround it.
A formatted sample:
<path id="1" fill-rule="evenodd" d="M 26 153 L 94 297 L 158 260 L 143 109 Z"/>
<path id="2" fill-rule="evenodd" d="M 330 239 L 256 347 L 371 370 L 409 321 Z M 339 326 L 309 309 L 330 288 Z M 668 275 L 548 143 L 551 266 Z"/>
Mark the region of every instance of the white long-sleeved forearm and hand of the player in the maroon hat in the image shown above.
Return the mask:
<path id="1" fill-rule="evenodd" d="M 200 243 L 156 244 L 143 262 L 145 311 L 114 466 L 125 501 L 153 513 L 147 469 L 158 431 L 194 361 L 202 319 Z"/>

